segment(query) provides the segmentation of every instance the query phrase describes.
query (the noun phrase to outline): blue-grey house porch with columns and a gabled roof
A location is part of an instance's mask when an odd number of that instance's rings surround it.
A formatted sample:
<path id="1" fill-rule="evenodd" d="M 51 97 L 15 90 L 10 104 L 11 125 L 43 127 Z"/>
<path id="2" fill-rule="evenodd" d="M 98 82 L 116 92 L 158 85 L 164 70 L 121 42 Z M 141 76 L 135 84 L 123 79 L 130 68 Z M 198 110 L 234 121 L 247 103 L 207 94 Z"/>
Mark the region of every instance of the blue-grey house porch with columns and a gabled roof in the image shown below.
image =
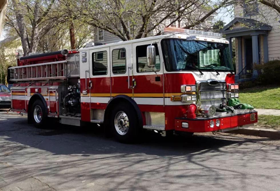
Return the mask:
<path id="1" fill-rule="evenodd" d="M 254 19 L 235 18 L 227 24 L 221 33 L 229 40 L 232 55 L 232 46 L 235 46 L 235 82 L 249 81 L 258 76 L 254 64 L 268 61 L 268 32 L 272 27 Z M 235 38 L 235 44 L 232 39 Z"/>

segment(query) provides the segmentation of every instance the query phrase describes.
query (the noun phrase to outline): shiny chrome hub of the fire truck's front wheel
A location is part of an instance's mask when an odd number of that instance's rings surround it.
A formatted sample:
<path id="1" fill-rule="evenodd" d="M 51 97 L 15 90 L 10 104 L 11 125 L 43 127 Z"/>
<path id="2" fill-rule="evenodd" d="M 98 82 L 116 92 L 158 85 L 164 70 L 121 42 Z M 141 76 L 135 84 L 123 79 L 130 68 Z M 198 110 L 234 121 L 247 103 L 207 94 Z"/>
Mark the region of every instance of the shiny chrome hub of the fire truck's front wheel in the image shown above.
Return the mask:
<path id="1" fill-rule="evenodd" d="M 123 111 L 117 112 L 115 115 L 115 129 L 118 134 L 125 135 L 129 128 L 129 120 L 127 114 Z"/>

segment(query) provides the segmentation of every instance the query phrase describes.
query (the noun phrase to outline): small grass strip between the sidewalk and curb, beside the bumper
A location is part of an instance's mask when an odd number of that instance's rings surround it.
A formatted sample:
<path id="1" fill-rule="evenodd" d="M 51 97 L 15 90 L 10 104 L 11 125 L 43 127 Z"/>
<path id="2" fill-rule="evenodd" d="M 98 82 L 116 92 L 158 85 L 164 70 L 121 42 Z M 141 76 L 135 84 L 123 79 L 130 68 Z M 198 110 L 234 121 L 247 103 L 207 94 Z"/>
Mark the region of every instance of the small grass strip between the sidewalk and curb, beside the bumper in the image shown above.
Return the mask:
<path id="1" fill-rule="evenodd" d="M 262 128 L 280 130 L 280 116 L 259 115 L 257 125 L 261 126 Z"/>

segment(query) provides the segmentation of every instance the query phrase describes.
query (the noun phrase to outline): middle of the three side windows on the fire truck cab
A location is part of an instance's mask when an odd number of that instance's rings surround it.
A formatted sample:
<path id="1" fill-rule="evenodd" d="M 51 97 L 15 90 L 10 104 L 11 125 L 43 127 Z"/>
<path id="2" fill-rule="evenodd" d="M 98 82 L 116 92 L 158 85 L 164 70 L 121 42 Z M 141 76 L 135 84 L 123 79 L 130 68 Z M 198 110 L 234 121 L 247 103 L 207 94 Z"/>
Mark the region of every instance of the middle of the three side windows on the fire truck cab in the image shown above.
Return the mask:
<path id="1" fill-rule="evenodd" d="M 112 51 L 112 71 L 113 74 L 123 74 L 126 72 L 125 48 L 114 49 Z"/>

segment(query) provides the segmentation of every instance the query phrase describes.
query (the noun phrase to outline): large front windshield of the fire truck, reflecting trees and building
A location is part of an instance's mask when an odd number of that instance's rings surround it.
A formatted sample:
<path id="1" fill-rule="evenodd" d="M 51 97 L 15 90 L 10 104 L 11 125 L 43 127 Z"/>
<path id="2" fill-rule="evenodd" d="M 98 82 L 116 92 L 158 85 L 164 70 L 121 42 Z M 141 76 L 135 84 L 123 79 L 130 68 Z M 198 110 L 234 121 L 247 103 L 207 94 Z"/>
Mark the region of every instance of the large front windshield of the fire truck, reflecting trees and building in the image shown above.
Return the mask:
<path id="1" fill-rule="evenodd" d="M 167 71 L 219 70 L 233 71 L 229 45 L 184 39 L 161 41 Z"/>

